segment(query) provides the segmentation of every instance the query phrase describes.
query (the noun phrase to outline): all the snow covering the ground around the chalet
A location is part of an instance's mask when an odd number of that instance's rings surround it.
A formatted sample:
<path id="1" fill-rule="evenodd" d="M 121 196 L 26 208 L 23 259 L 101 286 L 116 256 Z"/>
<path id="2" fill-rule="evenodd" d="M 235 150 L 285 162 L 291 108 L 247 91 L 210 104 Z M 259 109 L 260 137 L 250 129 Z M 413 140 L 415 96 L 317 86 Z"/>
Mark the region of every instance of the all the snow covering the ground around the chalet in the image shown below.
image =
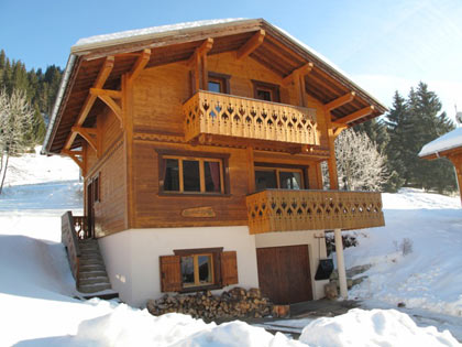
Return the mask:
<path id="1" fill-rule="evenodd" d="M 385 194 L 387 227 L 363 231 L 360 246 L 345 252 L 350 265 L 374 264 L 351 296 L 385 307 L 404 302 L 409 315 L 356 308 L 333 318 L 286 321 L 302 328 L 294 340 L 239 321 L 217 325 L 182 314 L 154 317 L 114 301 L 74 299 L 61 215 L 81 208 L 76 165 L 33 154 L 12 162 L 28 171 L 10 177 L 11 186 L 0 196 L 0 346 L 459 345 L 441 328 L 453 333 L 453 325 L 446 324 L 449 317 L 460 318 L 462 310 L 462 256 L 455 251 L 462 209 L 457 198 L 410 191 Z M 406 257 L 393 243 L 404 238 L 414 241 Z M 417 315 L 421 327 L 414 322 Z"/>

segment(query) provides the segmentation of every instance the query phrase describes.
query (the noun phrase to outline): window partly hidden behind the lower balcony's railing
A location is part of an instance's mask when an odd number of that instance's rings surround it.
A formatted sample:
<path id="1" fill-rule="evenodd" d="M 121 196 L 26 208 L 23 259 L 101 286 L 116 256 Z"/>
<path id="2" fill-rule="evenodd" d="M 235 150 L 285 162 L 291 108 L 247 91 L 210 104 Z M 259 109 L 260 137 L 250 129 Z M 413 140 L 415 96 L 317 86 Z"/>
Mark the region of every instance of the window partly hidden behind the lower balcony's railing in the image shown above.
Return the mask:
<path id="1" fill-rule="evenodd" d="M 255 167 L 255 188 L 263 189 L 304 189 L 301 169 Z"/>

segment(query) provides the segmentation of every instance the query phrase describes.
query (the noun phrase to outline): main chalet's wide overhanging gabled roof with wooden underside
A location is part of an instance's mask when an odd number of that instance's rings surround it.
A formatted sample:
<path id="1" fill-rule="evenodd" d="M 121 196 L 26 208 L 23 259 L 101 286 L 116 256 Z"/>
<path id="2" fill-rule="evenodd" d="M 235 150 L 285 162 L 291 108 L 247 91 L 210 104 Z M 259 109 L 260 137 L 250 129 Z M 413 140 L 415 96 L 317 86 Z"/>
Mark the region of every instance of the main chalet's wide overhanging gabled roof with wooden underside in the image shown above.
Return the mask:
<path id="1" fill-rule="evenodd" d="M 386 111 L 385 106 L 359 87 L 327 58 L 263 19 L 198 21 L 79 40 L 70 50 L 45 137 L 44 152 L 59 153 L 63 149 L 107 56 L 114 56 L 116 59 L 102 87 L 117 89 L 122 74 L 130 72 L 136 62 L 136 55 L 130 53 L 145 48 L 154 50 L 155 54 L 151 55 L 145 66 L 147 68 L 188 59 L 208 37 L 213 39 L 213 46 L 208 53 L 209 55 L 237 51 L 260 30 L 265 31 L 265 39 L 263 44 L 250 54 L 251 58 L 283 78 L 307 63 L 311 63 L 314 67 L 305 77 L 306 91 L 323 104 L 349 93 L 355 93 L 354 100 L 331 111 L 333 121 L 371 106 L 373 106 L 372 113 L 358 118 L 350 124 L 365 121 Z M 96 115 L 103 107 L 103 104 L 97 100 L 84 126 L 91 127 Z M 73 148 L 80 147 L 80 142 L 81 139 L 78 137 Z"/>

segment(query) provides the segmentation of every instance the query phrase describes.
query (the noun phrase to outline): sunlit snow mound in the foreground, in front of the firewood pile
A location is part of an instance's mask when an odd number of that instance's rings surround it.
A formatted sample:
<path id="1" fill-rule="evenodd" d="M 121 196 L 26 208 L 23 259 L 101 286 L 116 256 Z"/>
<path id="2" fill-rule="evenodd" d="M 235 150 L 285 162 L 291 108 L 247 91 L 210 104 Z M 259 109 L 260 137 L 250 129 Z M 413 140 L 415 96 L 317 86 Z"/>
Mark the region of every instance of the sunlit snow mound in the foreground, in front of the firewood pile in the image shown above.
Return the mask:
<path id="1" fill-rule="evenodd" d="M 304 346 L 280 333 L 272 335 L 239 321 L 217 326 L 176 313 L 154 317 L 146 310 L 124 304 L 82 322 L 74 340 L 97 346 Z"/>

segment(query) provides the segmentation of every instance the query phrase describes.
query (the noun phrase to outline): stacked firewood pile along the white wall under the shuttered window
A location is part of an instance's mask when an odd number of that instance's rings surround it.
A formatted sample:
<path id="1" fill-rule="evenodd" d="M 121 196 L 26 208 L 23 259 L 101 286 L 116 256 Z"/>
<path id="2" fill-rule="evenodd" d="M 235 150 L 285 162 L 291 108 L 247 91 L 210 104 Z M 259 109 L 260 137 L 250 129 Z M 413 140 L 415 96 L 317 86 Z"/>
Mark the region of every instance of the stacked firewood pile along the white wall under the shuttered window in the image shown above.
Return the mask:
<path id="1" fill-rule="evenodd" d="M 268 299 L 262 297 L 260 289 L 246 291 L 242 288 L 233 288 L 219 296 L 205 291 L 189 295 L 166 294 L 147 302 L 147 311 L 155 316 L 177 312 L 206 321 L 231 317 L 260 318 L 273 314 L 273 306 Z"/>

